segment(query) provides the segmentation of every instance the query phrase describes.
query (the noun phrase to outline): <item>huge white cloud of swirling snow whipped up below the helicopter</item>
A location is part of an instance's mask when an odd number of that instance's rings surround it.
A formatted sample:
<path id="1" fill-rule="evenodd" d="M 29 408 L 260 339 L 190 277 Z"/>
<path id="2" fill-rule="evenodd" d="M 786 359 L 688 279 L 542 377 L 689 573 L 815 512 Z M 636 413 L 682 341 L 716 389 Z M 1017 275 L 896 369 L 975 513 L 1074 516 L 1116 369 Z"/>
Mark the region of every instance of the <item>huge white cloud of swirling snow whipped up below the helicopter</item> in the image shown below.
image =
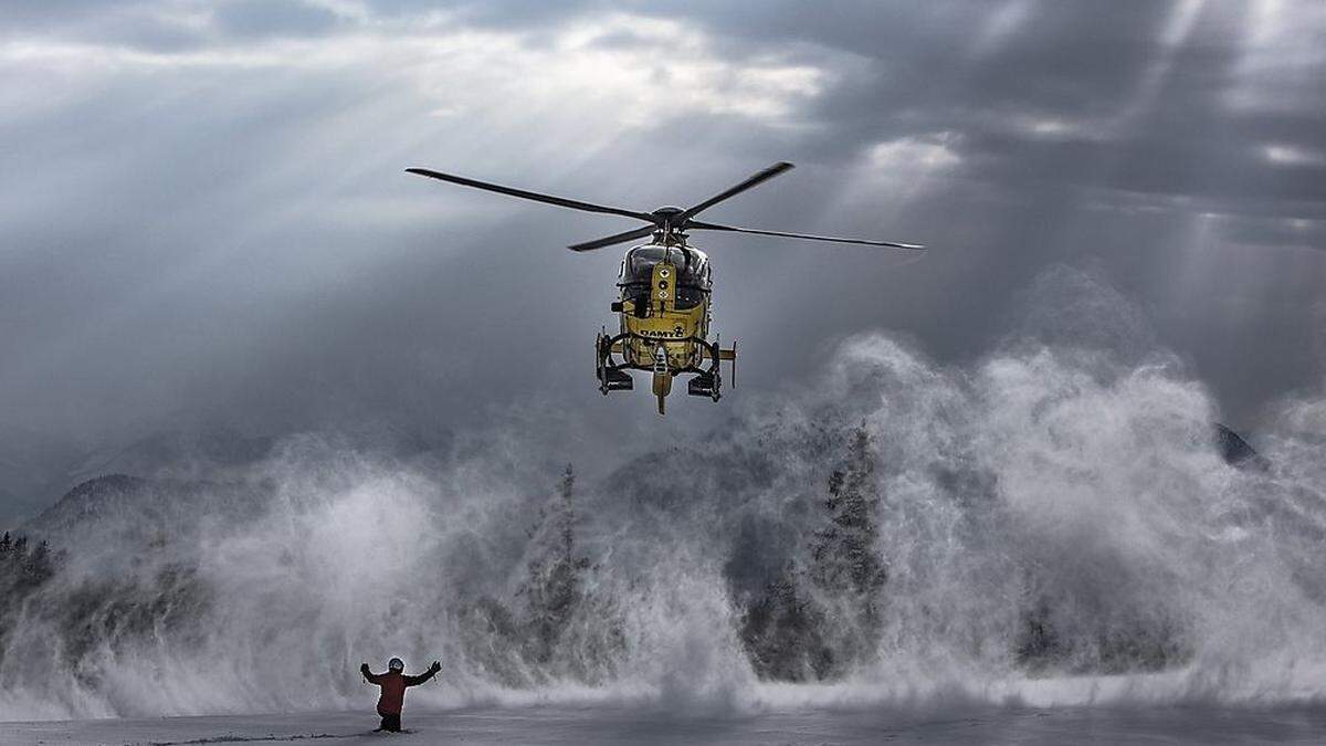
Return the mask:
<path id="1" fill-rule="evenodd" d="M 1087 297 L 1103 336 L 1034 309 L 969 368 L 855 337 L 817 393 L 593 481 L 500 431 L 463 457 L 302 437 L 241 483 L 109 482 L 3 609 L 0 718 L 363 706 L 355 668 L 392 654 L 444 661 L 416 706 L 1322 697 L 1326 439 L 1305 427 L 1326 400 L 1233 467 L 1204 388 L 1057 272 L 1044 288 Z M 815 580 L 853 490 L 866 597 Z"/>

